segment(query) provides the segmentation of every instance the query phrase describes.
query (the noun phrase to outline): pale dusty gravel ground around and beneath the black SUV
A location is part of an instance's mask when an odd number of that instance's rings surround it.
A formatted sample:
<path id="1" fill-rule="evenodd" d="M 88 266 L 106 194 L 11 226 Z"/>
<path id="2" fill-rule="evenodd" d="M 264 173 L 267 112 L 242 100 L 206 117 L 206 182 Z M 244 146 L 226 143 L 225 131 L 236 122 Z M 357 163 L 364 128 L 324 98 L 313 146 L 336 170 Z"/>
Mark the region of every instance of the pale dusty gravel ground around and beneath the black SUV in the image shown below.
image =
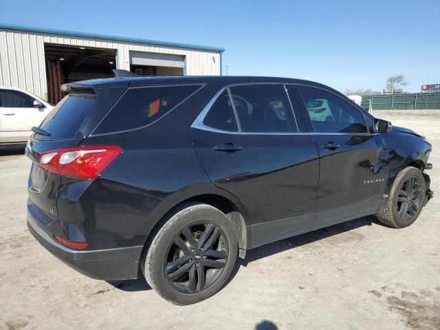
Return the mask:
<path id="1" fill-rule="evenodd" d="M 440 111 L 374 115 L 428 137 L 438 194 Z M 44 250 L 25 225 L 29 167 L 0 155 L 0 329 L 440 329 L 439 197 L 403 230 L 364 217 L 252 250 L 219 294 L 177 307 Z"/>

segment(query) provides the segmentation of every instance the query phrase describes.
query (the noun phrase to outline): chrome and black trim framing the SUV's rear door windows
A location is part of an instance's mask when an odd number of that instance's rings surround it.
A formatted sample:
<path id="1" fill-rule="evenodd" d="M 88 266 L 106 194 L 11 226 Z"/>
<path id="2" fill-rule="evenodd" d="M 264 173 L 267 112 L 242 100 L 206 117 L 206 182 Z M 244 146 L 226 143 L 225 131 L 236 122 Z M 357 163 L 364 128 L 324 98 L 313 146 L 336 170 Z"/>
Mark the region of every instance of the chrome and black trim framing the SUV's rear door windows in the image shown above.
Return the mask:
<path id="1" fill-rule="evenodd" d="M 284 92 L 287 96 L 287 99 L 289 100 L 288 105 L 290 105 L 290 111 L 294 115 L 294 121 L 295 121 L 297 131 L 296 132 L 243 132 L 243 131 L 241 131 L 241 124 L 240 124 L 240 120 L 238 118 L 238 114 L 236 112 L 235 102 L 232 97 L 232 92 L 230 91 L 230 87 L 249 86 L 249 85 L 281 85 L 281 86 L 283 86 Z M 203 131 L 211 131 L 211 132 L 215 132 L 215 133 L 242 134 L 242 135 L 298 135 L 298 134 L 305 134 L 305 132 L 300 132 L 300 130 L 299 130 L 294 107 L 292 104 L 292 100 L 290 100 L 290 96 L 287 91 L 286 85 L 288 85 L 288 84 L 286 84 L 286 83 L 236 83 L 236 84 L 231 84 L 231 85 L 227 85 L 225 87 L 222 87 L 217 92 L 217 94 L 215 94 L 211 98 L 211 100 L 206 104 L 206 106 L 203 107 L 203 109 L 200 111 L 199 115 L 197 115 L 197 118 L 195 118 L 194 122 L 192 122 L 190 127 L 192 127 L 193 129 L 201 129 Z M 205 120 L 205 117 L 208 114 L 208 112 L 210 111 L 212 105 L 214 105 L 214 102 L 217 101 L 217 98 L 219 98 L 221 96 L 221 94 L 223 94 L 223 91 L 225 91 L 225 90 L 228 91 L 228 95 L 231 100 L 232 109 L 234 111 L 234 117 L 236 120 L 236 125 L 237 125 L 238 131 L 225 131 L 223 129 L 216 129 L 214 127 L 208 126 L 203 123 L 203 120 Z"/>

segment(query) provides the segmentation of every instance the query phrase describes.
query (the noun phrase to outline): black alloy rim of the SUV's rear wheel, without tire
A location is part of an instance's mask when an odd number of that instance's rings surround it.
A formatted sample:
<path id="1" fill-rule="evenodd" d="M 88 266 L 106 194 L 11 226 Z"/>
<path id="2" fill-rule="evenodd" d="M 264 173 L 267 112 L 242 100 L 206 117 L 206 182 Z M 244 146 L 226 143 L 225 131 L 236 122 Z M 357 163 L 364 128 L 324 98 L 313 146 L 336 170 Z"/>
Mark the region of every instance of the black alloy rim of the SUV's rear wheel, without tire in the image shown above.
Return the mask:
<path id="1" fill-rule="evenodd" d="M 175 290 L 195 294 L 212 285 L 228 261 L 225 233 L 210 221 L 186 226 L 170 243 L 164 270 Z"/>

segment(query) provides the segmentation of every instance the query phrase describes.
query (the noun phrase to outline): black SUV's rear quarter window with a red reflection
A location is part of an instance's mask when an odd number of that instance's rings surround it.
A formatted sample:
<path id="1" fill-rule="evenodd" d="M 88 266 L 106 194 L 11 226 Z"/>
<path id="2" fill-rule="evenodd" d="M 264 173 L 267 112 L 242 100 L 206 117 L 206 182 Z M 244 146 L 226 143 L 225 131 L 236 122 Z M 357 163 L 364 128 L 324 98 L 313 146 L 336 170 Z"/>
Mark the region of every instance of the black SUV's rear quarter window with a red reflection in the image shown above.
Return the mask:
<path id="1" fill-rule="evenodd" d="M 94 134 L 137 129 L 151 124 L 200 87 L 200 85 L 191 85 L 129 89 Z"/>

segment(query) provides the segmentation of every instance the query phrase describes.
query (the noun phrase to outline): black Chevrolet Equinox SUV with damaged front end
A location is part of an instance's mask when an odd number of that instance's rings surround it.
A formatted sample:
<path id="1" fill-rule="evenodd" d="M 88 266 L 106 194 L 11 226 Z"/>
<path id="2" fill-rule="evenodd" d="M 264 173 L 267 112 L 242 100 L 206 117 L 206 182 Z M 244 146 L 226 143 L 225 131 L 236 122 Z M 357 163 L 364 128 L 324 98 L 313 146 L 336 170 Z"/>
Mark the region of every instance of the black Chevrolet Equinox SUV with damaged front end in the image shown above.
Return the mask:
<path id="1" fill-rule="evenodd" d="M 218 292 L 247 250 L 369 214 L 406 227 L 432 196 L 431 144 L 325 85 L 117 77 L 62 89 L 26 148 L 30 231 L 87 276 L 142 269 L 175 304 Z"/>

